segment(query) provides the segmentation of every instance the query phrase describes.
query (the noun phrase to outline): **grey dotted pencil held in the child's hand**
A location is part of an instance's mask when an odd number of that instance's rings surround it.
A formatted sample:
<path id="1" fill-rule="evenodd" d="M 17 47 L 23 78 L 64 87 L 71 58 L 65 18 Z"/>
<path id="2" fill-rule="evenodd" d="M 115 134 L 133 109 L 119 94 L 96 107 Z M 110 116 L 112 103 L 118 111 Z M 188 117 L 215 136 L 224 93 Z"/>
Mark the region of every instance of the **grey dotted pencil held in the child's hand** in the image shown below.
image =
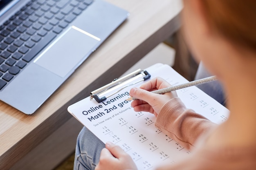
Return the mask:
<path id="1" fill-rule="evenodd" d="M 177 86 L 171 86 L 171 87 L 167 87 L 167 88 L 162 88 L 156 91 L 151 91 L 152 93 L 157 93 L 157 94 L 164 94 L 164 93 L 168 93 L 171 91 L 176 91 L 182 88 L 186 88 L 186 87 L 190 87 L 190 86 L 195 86 L 195 85 L 199 85 L 199 84 L 204 84 L 204 83 L 208 83 L 208 82 L 212 82 L 215 81 L 217 78 L 215 75 L 211 76 L 211 77 L 206 77 L 203 79 L 198 79 L 192 82 L 188 82 L 188 83 L 184 83 L 184 84 L 180 84 Z M 132 100 L 136 100 L 136 98 L 134 97 L 130 97 L 128 99 L 126 99 L 126 101 L 132 101 Z"/>

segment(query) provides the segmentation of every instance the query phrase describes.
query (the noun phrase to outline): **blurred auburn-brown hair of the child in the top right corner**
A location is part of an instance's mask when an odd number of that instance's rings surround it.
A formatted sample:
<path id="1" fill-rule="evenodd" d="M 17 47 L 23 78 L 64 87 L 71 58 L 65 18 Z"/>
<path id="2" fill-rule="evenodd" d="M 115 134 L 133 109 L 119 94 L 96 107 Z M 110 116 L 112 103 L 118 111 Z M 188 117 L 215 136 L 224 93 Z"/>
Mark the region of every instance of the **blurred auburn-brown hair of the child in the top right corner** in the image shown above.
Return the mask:
<path id="1" fill-rule="evenodd" d="M 201 0 L 201 4 L 213 29 L 256 51 L 256 0 Z"/>

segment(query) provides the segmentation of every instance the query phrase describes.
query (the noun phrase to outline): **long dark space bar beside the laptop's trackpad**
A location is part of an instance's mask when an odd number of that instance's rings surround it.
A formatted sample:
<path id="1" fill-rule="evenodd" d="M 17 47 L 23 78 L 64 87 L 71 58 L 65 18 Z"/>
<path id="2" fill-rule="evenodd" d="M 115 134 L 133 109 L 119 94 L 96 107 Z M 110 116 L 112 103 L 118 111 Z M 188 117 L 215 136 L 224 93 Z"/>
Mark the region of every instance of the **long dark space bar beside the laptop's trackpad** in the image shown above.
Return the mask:
<path id="1" fill-rule="evenodd" d="M 56 37 L 55 33 L 48 33 L 41 41 L 38 42 L 23 58 L 22 60 L 30 62 L 36 54 L 38 54 L 49 42 Z"/>

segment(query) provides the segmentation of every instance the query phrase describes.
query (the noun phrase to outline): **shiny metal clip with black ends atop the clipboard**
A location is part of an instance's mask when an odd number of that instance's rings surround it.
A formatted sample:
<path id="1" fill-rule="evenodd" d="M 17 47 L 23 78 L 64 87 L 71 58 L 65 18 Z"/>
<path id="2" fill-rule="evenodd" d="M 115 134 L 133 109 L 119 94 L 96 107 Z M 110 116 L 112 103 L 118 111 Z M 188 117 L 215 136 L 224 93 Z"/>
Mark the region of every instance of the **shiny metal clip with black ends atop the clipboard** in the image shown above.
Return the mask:
<path id="1" fill-rule="evenodd" d="M 90 93 L 90 100 L 95 99 L 98 103 L 103 102 L 108 97 L 115 95 L 124 88 L 145 81 L 149 78 L 150 74 L 147 71 L 141 71 L 141 69 L 138 69 L 137 71 L 119 79 L 114 79 L 111 83 L 92 91 Z"/>

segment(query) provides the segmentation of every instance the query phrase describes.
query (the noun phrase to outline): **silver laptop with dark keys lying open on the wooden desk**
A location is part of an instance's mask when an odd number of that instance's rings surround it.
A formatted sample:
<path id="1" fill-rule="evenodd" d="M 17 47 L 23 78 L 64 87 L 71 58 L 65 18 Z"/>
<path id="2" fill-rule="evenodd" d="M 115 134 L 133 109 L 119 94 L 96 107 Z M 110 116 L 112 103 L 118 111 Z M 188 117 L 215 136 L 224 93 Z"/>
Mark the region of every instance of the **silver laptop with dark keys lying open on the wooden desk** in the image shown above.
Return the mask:
<path id="1" fill-rule="evenodd" d="M 0 0 L 0 100 L 33 114 L 127 17 L 103 0 Z"/>

